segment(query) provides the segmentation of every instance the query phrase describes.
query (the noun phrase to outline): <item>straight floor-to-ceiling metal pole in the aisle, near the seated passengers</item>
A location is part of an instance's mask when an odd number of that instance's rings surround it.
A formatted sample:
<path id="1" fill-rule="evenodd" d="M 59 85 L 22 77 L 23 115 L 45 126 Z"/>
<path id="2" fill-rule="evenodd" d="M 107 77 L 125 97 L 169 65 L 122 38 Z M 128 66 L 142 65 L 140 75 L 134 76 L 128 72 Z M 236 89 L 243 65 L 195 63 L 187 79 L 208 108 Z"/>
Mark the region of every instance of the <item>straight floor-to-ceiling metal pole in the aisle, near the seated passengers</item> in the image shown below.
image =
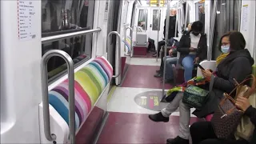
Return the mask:
<path id="1" fill-rule="evenodd" d="M 164 66 L 163 66 L 163 80 L 162 80 L 162 98 L 164 98 L 165 95 L 165 88 L 166 88 L 166 50 L 167 50 L 167 42 L 168 42 L 168 34 L 169 34 L 169 22 L 170 22 L 170 0 L 167 0 L 167 10 L 166 10 L 166 38 L 165 38 L 165 58 L 164 60 Z"/>

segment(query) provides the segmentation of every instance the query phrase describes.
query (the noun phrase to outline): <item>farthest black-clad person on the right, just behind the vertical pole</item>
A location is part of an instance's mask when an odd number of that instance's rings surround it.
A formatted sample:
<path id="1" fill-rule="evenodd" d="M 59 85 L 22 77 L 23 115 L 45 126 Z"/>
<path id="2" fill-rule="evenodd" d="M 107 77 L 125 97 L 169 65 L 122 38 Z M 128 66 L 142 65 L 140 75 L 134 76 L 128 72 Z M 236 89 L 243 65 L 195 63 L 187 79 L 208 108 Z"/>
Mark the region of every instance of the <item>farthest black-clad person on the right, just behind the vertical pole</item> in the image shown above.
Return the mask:
<path id="1" fill-rule="evenodd" d="M 170 10 L 168 39 L 178 37 L 178 30 L 177 30 L 177 33 L 176 33 L 176 36 L 175 36 L 176 14 L 177 14 L 177 11 L 175 9 Z M 166 38 L 166 19 L 165 19 L 165 25 L 163 27 L 163 35 Z M 161 50 L 161 46 L 164 46 L 165 43 L 166 43 L 165 41 L 158 42 L 158 57 L 159 57 L 159 53 L 160 53 L 160 50 Z M 157 55 L 154 54 L 153 56 L 156 57 Z"/>

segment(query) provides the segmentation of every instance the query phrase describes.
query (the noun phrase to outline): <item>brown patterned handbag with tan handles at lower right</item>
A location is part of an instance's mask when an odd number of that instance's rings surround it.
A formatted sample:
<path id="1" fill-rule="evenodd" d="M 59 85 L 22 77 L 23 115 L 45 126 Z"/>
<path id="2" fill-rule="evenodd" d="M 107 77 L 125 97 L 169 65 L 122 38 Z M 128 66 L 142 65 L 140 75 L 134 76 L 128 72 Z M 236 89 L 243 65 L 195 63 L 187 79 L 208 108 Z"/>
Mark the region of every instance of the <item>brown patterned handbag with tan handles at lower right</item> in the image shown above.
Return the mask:
<path id="1" fill-rule="evenodd" d="M 238 91 L 239 94 L 237 94 L 245 98 L 249 98 L 250 94 L 254 92 L 255 87 L 255 77 L 254 75 L 250 75 L 250 77 L 251 78 L 246 78 L 246 80 L 238 84 L 230 94 L 223 94 L 224 98 L 222 98 L 221 102 L 218 104 L 218 108 L 214 111 L 214 116 L 211 119 L 217 138 L 228 139 L 234 136 L 234 132 L 237 129 L 239 122 L 241 122 L 244 112 L 242 110 L 238 110 L 235 106 L 234 98 L 231 98 L 230 95 L 234 94 L 239 86 L 253 80 L 253 85 L 251 87 L 246 86 L 243 90 Z"/>

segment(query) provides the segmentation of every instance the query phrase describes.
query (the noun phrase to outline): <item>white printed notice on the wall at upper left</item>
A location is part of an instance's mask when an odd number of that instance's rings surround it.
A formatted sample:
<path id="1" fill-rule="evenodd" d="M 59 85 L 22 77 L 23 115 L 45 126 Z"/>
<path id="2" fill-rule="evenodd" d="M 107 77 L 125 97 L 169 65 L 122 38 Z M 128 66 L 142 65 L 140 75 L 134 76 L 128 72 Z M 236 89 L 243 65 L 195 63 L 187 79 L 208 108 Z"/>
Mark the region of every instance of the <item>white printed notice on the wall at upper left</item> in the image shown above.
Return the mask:
<path id="1" fill-rule="evenodd" d="M 26 41 L 36 38 L 34 29 L 35 7 L 33 0 L 18 0 L 18 38 Z"/>

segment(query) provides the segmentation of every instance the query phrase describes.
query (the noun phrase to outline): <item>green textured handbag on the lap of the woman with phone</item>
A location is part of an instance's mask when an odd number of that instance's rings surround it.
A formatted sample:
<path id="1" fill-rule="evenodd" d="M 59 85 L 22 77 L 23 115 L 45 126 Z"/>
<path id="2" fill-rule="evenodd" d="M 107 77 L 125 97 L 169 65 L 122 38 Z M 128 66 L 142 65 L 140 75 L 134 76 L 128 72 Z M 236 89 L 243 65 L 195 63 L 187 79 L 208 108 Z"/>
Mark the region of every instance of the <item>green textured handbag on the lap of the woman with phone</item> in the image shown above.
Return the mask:
<path id="1" fill-rule="evenodd" d="M 187 106 L 200 110 L 204 106 L 204 103 L 208 98 L 208 94 L 208 90 L 204 90 L 198 86 L 188 86 L 184 91 L 182 102 Z"/>

